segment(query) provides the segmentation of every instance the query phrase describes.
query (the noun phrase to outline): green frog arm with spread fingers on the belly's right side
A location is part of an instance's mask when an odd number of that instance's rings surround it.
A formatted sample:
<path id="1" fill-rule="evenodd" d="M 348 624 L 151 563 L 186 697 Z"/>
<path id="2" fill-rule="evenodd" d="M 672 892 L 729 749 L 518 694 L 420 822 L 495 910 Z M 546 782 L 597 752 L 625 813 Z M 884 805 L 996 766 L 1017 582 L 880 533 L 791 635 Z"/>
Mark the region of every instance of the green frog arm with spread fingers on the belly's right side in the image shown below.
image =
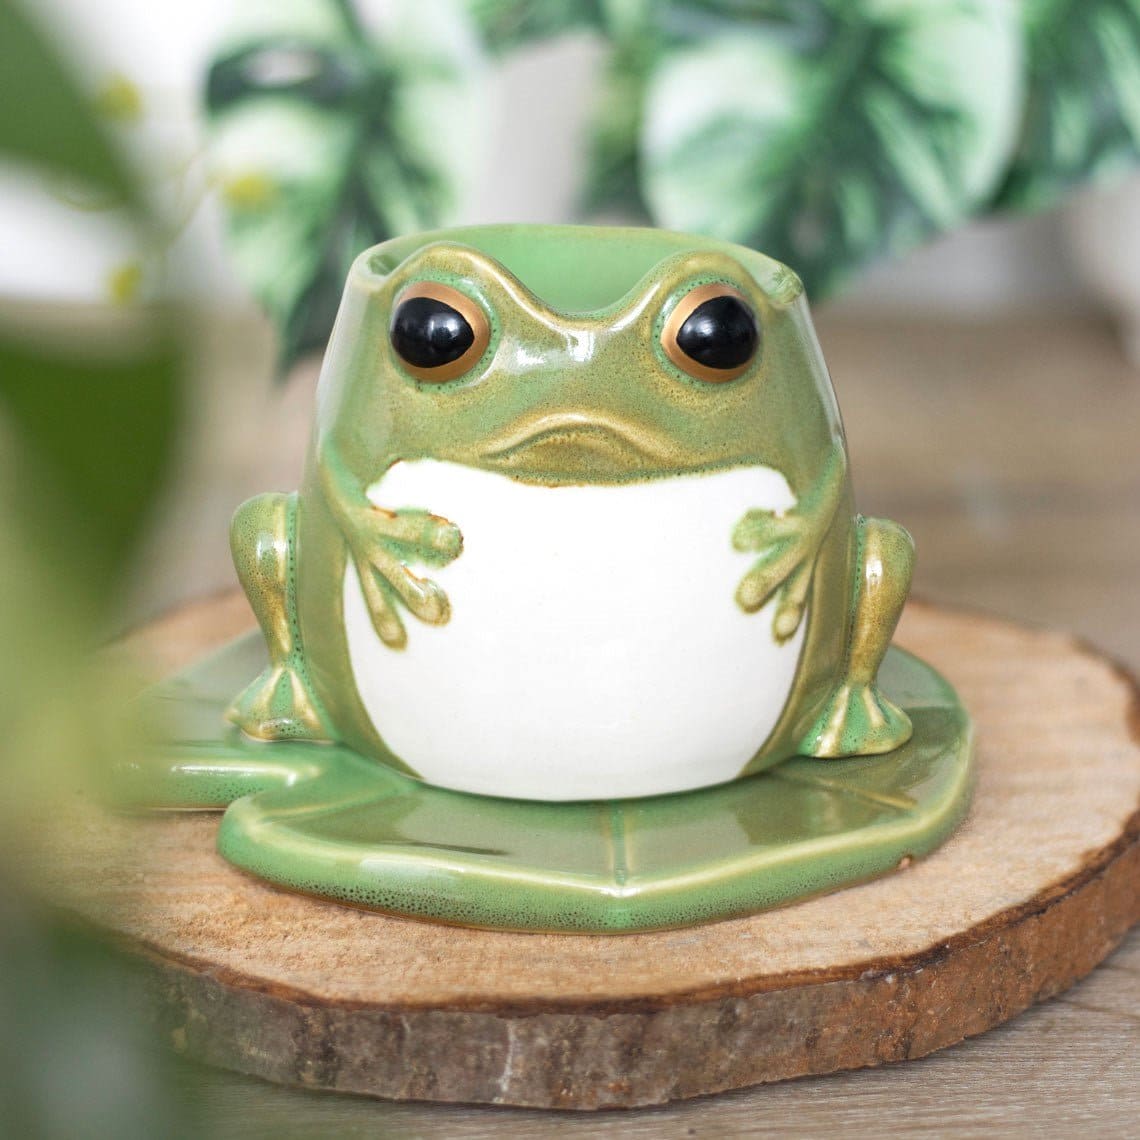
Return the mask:
<path id="1" fill-rule="evenodd" d="M 819 479 L 789 511 L 749 511 L 732 534 L 738 551 L 759 554 L 736 587 L 736 604 L 746 613 L 763 609 L 775 596 L 772 633 L 779 644 L 799 628 L 820 546 L 842 497 L 847 459 L 840 445 L 828 455 Z"/>

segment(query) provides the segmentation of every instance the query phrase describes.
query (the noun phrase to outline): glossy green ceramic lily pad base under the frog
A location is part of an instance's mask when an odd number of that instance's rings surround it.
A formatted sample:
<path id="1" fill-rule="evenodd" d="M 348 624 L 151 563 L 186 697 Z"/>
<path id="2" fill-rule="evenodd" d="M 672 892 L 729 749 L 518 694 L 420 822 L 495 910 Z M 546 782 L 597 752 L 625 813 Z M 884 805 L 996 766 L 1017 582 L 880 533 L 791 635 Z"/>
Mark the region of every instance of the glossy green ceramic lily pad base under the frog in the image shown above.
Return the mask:
<path id="1" fill-rule="evenodd" d="M 914 723 L 881 757 L 790 760 L 717 788 L 544 804 L 433 788 L 344 748 L 256 743 L 227 725 L 263 665 L 251 634 L 152 689 L 152 744 L 117 773 L 136 808 L 227 807 L 218 848 L 291 890 L 414 918 L 618 933 L 777 906 L 894 871 L 966 815 L 970 720 L 929 666 L 881 679 Z"/>

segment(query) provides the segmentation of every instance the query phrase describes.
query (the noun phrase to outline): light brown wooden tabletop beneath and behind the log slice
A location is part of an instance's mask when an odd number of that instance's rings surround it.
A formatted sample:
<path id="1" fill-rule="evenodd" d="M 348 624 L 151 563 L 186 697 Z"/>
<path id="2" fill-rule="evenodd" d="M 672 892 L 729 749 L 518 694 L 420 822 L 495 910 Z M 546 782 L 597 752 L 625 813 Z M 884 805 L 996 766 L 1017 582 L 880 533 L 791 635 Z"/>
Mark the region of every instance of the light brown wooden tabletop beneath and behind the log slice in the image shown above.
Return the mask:
<path id="1" fill-rule="evenodd" d="M 860 505 L 931 598 L 1069 628 L 1140 668 L 1140 375 L 1089 319 L 822 319 Z M 204 1134 L 1140 1134 L 1140 930 L 1091 977 L 919 1061 L 598 1115 L 309 1093 L 192 1064 Z"/>

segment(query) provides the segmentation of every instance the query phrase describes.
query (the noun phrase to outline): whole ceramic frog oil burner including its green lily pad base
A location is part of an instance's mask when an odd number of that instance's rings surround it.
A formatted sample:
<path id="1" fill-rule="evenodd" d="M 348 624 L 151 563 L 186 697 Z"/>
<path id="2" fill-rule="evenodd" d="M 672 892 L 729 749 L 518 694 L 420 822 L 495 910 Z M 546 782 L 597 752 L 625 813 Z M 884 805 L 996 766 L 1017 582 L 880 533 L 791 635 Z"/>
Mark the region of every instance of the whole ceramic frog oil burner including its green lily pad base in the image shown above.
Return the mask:
<path id="1" fill-rule="evenodd" d="M 682 926 L 885 873 L 968 807 L 969 718 L 889 649 L 910 537 L 855 512 L 803 290 L 754 251 L 532 226 L 367 251 L 301 489 L 231 540 L 263 640 L 152 692 L 174 715 L 123 784 L 233 801 L 222 854 L 283 886 Z"/>

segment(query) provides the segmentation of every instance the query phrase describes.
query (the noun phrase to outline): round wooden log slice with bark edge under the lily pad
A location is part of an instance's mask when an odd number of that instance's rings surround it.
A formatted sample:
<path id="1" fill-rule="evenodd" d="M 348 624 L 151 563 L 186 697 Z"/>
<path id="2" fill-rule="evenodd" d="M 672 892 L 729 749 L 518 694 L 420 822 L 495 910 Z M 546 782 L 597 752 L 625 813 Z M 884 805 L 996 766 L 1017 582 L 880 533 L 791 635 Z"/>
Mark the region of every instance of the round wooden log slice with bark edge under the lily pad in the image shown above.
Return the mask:
<path id="1" fill-rule="evenodd" d="M 129 648 L 169 670 L 251 621 L 219 597 Z M 286 1084 L 592 1109 L 921 1057 L 1065 990 L 1140 919 L 1140 715 L 1066 636 L 915 603 L 898 640 L 976 718 L 975 806 L 929 858 L 833 895 L 666 933 L 469 930 L 249 878 L 217 814 L 96 809 L 44 886 L 145 962 L 176 1048 Z"/>

